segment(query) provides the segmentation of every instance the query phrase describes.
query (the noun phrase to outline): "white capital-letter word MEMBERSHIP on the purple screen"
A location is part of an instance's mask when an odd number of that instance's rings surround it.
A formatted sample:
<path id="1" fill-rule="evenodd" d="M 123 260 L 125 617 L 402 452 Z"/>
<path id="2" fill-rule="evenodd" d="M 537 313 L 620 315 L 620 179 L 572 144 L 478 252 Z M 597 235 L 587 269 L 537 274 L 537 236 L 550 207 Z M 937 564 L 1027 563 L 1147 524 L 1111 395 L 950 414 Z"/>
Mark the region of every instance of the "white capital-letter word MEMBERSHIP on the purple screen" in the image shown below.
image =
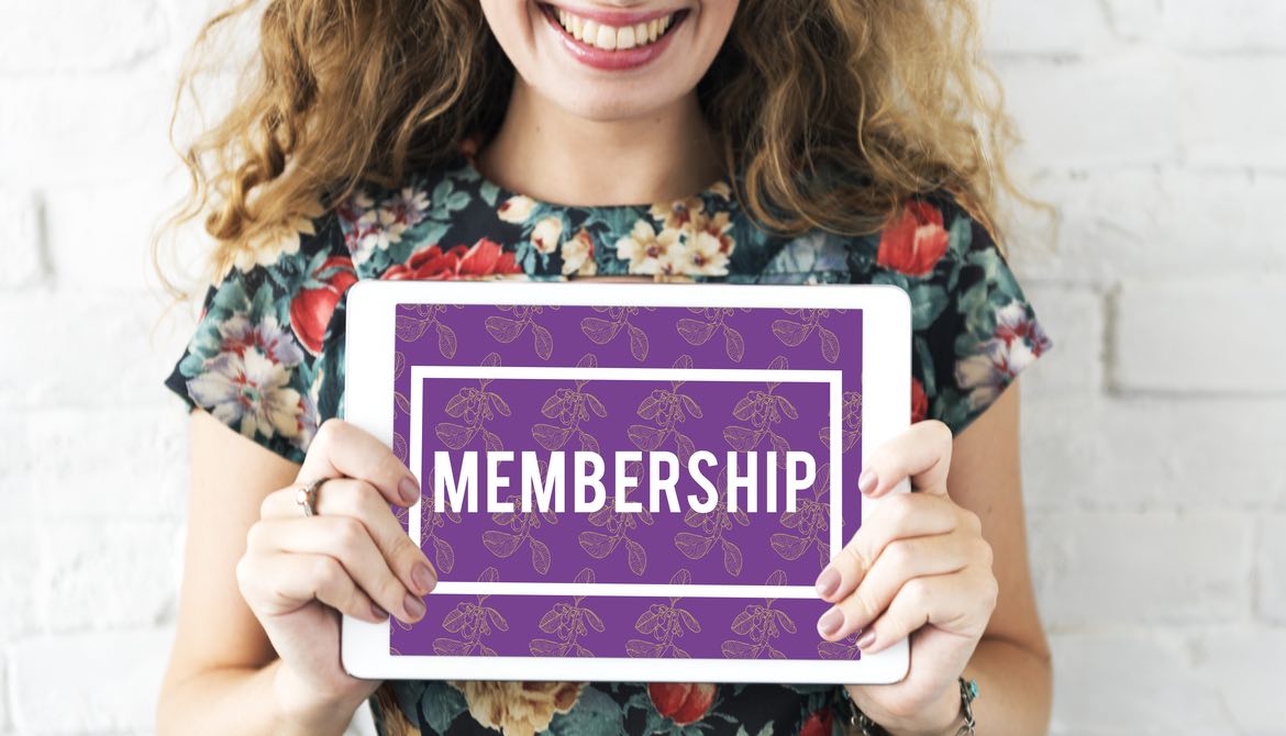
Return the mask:
<path id="1" fill-rule="evenodd" d="M 459 456 L 459 461 L 453 460 Z M 480 479 L 480 457 L 475 450 L 453 453 L 444 450 L 433 452 L 433 509 L 437 513 L 451 511 L 477 513 L 478 493 L 486 495 L 485 513 L 513 513 L 514 502 L 511 495 L 521 491 L 521 511 L 532 510 L 563 513 L 567 509 L 568 486 L 572 495 L 572 510 L 579 514 L 593 514 L 607 505 L 612 497 L 617 513 L 638 513 L 643 510 L 642 501 L 626 500 L 630 491 L 639 487 L 637 473 L 647 466 L 648 511 L 661 511 L 662 500 L 670 511 L 684 511 L 679 504 L 679 483 L 683 478 L 680 462 L 674 452 L 622 451 L 615 452 L 612 491 L 608 493 L 603 480 L 607 474 L 606 462 L 598 452 L 576 451 L 571 453 L 553 451 L 548 459 L 534 451 L 523 451 L 514 459 L 512 451 L 484 452 L 481 459 L 485 474 Z M 644 457 L 646 456 L 646 457 Z M 809 452 L 787 451 L 784 462 L 778 462 L 773 452 L 733 452 L 723 459 L 724 469 L 719 470 L 720 459 L 710 451 L 698 450 L 688 456 L 683 470 L 700 492 L 684 495 L 687 507 L 700 514 L 710 514 L 720 506 L 720 489 L 711 478 L 721 480 L 723 495 L 727 498 L 727 511 L 736 513 L 745 500 L 745 510 L 759 511 L 763 496 L 764 511 L 777 513 L 779 492 L 786 496 L 786 511 L 795 511 L 796 495 L 813 484 L 817 477 L 817 461 Z M 543 468 L 544 466 L 544 468 Z M 570 468 L 568 468 L 570 466 Z M 634 470 L 631 474 L 630 470 Z M 514 471 L 518 477 L 514 478 Z M 481 486 L 481 488 L 480 488 Z"/>

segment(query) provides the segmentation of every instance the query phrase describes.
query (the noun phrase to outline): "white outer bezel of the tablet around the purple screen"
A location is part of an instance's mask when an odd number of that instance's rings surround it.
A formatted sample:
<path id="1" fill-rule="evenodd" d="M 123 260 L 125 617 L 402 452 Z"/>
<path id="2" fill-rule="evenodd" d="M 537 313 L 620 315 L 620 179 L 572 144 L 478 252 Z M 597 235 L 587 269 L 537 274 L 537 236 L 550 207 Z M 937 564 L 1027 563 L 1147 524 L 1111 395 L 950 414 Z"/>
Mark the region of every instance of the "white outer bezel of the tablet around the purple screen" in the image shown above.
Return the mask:
<path id="1" fill-rule="evenodd" d="M 910 299 L 894 285 L 658 284 L 547 281 L 377 281 L 347 292 L 345 419 L 392 444 L 394 313 L 399 303 L 862 310 L 862 461 L 910 425 Z M 903 480 L 895 492 L 909 491 Z M 862 518 L 880 500 L 862 502 Z M 847 539 L 845 539 L 847 541 Z M 832 557 L 838 554 L 831 550 Z M 430 593 L 428 604 L 432 605 Z M 341 662 L 368 679 L 889 683 L 905 677 L 905 640 L 859 660 L 440 656 L 388 653 L 391 622 L 349 615 Z M 752 667 L 750 667 L 752 664 Z"/>

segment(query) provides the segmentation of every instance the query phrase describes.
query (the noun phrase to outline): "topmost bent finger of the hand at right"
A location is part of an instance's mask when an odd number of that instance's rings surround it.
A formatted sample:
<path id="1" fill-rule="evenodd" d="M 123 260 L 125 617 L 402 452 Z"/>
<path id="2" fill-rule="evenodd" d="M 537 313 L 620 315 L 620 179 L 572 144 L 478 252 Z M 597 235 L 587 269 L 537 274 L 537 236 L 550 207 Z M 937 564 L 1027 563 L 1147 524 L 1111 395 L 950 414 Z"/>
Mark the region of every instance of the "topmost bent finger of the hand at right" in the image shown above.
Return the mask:
<path id="1" fill-rule="evenodd" d="M 952 464 L 952 430 L 936 419 L 917 421 L 871 452 L 858 477 L 858 488 L 872 498 L 887 493 L 903 478 L 916 491 L 946 495 Z"/>

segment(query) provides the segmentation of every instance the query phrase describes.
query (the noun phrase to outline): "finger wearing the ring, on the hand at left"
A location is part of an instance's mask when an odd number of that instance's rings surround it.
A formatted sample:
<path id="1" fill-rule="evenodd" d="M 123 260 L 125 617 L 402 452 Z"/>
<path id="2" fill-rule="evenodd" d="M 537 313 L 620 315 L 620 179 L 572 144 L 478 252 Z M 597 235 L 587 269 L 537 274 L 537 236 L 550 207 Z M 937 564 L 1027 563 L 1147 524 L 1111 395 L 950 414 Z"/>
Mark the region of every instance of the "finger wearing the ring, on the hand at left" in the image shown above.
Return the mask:
<path id="1" fill-rule="evenodd" d="M 388 502 L 379 491 L 356 478 L 336 478 L 327 480 L 318 489 L 314 509 L 318 516 L 351 516 L 367 527 L 367 533 L 376 542 L 379 554 L 397 574 L 404 586 L 415 595 L 428 595 L 437 584 L 437 569 L 428 557 L 412 542 L 394 516 Z M 274 491 L 264 497 L 260 505 L 262 519 L 302 518 L 298 504 L 294 502 L 292 488 Z"/>

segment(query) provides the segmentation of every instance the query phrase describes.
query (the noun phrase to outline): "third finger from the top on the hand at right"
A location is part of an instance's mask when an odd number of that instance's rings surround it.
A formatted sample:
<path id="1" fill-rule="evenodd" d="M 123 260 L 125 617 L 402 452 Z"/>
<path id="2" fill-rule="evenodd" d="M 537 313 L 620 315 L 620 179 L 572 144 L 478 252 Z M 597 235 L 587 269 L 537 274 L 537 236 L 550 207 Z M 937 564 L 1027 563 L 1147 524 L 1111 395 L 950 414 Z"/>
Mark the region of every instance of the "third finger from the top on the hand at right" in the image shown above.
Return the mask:
<path id="1" fill-rule="evenodd" d="M 858 588 L 818 618 L 817 631 L 829 641 L 841 640 L 882 614 L 907 582 L 963 570 L 979 555 L 963 534 L 895 539 Z"/>

